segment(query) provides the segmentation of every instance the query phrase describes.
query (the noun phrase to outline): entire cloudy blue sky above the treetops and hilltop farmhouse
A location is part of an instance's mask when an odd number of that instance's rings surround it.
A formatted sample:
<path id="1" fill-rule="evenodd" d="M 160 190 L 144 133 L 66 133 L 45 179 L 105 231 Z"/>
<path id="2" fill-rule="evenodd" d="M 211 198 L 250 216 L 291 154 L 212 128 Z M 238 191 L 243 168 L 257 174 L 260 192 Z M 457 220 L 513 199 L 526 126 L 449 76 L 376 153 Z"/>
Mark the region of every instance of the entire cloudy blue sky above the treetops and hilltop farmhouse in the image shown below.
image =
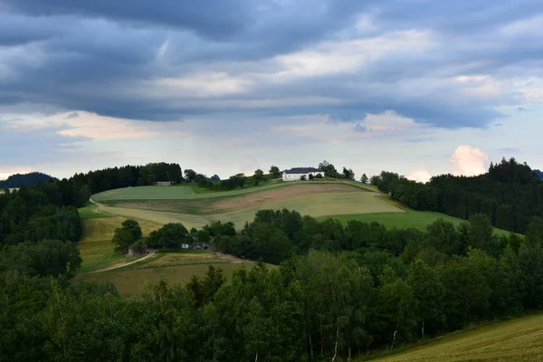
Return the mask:
<path id="1" fill-rule="evenodd" d="M 540 0 L 0 0 L 0 179 L 543 168 Z"/>

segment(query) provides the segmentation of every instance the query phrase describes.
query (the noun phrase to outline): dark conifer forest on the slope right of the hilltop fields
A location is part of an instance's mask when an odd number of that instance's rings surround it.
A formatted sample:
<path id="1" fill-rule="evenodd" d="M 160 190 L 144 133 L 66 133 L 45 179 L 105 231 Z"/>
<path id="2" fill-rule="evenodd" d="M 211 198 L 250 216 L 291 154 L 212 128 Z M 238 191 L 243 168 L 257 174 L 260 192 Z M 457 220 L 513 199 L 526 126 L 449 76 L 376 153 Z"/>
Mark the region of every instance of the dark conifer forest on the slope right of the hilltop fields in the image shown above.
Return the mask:
<path id="1" fill-rule="evenodd" d="M 415 210 L 462 219 L 486 214 L 492 225 L 516 233 L 525 233 L 534 216 L 543 216 L 543 182 L 514 158 L 502 159 L 481 176 L 434 176 L 422 184 L 384 171 L 371 183 Z"/>

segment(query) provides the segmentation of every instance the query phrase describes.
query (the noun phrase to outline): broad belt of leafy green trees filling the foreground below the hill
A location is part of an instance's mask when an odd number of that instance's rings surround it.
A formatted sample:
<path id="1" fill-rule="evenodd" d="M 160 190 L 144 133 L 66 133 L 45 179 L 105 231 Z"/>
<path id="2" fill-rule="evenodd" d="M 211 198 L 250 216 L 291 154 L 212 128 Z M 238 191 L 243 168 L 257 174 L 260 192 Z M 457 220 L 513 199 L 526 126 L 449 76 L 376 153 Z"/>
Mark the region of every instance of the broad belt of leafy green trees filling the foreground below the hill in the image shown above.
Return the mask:
<path id="1" fill-rule="evenodd" d="M 330 223 L 264 211 L 252 232 L 272 228 L 291 240 L 301 228 L 324 243 L 292 252 L 279 268 L 259 262 L 226 282 L 210 267 L 185 286 L 161 281 L 131 300 L 112 285 L 9 266 L 0 272 L 0 357 L 338 360 L 543 308 L 542 219 L 525 239 L 497 237 L 484 215 L 425 232 Z M 225 224 L 206 230 L 238 237 Z"/>

